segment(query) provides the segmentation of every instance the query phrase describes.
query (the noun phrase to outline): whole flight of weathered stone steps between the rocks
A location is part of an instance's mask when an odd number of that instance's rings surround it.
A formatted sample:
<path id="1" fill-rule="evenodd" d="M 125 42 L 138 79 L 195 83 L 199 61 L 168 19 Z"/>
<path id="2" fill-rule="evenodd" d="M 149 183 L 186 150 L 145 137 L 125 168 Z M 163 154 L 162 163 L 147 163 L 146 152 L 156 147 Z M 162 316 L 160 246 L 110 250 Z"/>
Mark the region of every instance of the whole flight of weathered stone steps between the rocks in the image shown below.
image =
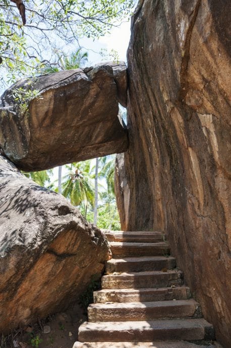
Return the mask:
<path id="1" fill-rule="evenodd" d="M 107 232 L 112 259 L 73 348 L 218 347 L 160 232 Z"/>

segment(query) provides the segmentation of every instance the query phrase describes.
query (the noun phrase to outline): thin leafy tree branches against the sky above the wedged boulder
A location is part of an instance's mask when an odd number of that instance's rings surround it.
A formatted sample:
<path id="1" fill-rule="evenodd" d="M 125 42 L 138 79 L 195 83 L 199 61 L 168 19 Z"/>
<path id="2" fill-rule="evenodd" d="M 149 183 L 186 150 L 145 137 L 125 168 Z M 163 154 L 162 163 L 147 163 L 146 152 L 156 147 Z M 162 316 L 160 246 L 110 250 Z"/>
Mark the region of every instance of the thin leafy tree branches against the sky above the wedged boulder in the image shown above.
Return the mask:
<path id="1" fill-rule="evenodd" d="M 24 0 L 24 4 L 25 26 L 12 0 L 0 4 L 0 69 L 8 82 L 39 73 L 47 63 L 59 67 L 60 52 L 68 45 L 76 50 L 83 37 L 108 33 L 128 18 L 134 0 Z"/>

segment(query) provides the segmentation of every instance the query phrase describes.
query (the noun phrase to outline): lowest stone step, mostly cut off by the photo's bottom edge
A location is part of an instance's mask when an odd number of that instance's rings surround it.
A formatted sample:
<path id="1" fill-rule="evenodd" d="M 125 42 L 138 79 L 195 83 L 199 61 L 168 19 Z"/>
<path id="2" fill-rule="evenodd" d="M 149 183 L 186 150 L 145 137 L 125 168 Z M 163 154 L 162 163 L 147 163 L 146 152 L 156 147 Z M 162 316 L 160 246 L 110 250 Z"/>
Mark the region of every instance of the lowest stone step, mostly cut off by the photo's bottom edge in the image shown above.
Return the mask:
<path id="1" fill-rule="evenodd" d="M 75 342 L 73 348 L 222 348 L 216 342 L 198 345 L 187 341 Z"/>

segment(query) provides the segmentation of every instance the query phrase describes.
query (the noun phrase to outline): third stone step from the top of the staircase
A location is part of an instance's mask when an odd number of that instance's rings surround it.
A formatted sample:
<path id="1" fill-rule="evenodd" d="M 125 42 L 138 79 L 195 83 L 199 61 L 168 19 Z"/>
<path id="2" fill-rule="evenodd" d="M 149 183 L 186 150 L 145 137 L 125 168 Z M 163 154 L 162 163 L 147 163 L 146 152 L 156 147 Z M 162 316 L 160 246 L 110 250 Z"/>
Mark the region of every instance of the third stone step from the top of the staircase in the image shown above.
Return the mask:
<path id="1" fill-rule="evenodd" d="M 176 267 L 176 259 L 171 256 L 141 256 L 111 259 L 106 262 L 106 273 L 160 271 Z"/>

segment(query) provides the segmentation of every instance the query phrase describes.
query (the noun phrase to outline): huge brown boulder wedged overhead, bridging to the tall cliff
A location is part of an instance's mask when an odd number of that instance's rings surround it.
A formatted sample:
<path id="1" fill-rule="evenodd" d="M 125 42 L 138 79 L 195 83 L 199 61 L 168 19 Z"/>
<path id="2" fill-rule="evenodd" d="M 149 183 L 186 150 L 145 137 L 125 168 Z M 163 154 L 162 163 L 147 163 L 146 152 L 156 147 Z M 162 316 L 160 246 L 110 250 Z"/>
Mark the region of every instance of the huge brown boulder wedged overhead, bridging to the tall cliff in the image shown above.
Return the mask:
<path id="1" fill-rule="evenodd" d="M 123 63 L 21 80 L 0 101 L 0 147 L 27 171 L 123 152 L 126 100 Z"/>

